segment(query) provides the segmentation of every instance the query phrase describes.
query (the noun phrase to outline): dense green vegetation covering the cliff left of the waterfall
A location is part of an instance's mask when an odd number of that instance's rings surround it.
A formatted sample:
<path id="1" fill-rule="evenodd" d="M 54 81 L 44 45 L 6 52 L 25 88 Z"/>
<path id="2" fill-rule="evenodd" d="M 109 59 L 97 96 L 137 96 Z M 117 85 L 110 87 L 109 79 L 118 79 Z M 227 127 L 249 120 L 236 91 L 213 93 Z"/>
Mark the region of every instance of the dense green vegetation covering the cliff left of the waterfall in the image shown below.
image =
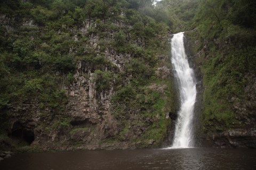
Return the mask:
<path id="1" fill-rule="evenodd" d="M 123 127 L 113 140 L 125 140 L 127 127 L 137 124 L 148 128 L 145 141 L 163 140 L 165 114 L 177 109 L 173 82 L 155 75 L 157 67 L 171 67 L 157 57 L 169 55 L 169 11 L 134 0 L 1 1 L 0 11 L 1 141 L 8 143 L 11 135 L 8 120 L 28 114 L 26 103 L 35 104 L 45 131 L 69 128 L 66 90 L 75 82 L 78 62 L 90 69 L 83 70 L 85 77 L 94 74 L 99 93 L 114 88 L 112 112 Z M 99 38 L 96 46 L 93 37 Z M 124 71 L 105 56 L 106 49 L 129 56 Z M 151 84 L 165 84 L 164 91 Z M 134 114 L 140 122 L 132 120 Z"/>

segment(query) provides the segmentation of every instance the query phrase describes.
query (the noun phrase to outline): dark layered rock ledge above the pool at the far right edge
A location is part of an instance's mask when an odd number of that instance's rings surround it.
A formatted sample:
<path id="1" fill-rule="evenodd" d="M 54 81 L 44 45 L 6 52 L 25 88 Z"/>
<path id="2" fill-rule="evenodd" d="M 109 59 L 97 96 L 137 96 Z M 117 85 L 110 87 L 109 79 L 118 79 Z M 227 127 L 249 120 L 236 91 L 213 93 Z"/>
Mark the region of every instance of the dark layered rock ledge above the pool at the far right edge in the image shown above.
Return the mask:
<path id="1" fill-rule="evenodd" d="M 239 126 L 242 128 L 228 129 L 219 134 L 208 135 L 207 140 L 212 141 L 214 147 L 256 148 L 255 82 L 255 78 L 252 78 L 244 87 L 245 93 L 242 99 L 237 96 L 230 99 L 233 110 L 237 115 L 236 119 L 241 122 Z"/>

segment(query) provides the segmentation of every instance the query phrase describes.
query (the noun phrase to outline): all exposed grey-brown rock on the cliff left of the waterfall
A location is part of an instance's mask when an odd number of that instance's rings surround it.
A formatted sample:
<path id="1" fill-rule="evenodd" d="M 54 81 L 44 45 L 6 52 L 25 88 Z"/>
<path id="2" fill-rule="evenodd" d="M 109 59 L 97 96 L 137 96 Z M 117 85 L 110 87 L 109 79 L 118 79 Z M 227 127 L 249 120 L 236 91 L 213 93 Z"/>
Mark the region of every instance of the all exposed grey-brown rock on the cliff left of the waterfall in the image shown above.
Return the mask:
<path id="1" fill-rule="evenodd" d="M 8 25 L 5 16 L 1 17 Z M 115 22 L 118 27 L 123 23 Z M 34 21 L 29 20 L 23 23 L 27 27 L 34 27 Z M 75 41 L 81 38 L 76 34 L 78 31 L 83 36 L 88 36 L 89 29 L 93 30 L 97 27 L 91 20 L 85 20 L 83 26 L 78 30 L 71 30 L 71 34 Z M 109 33 L 110 38 L 105 39 L 111 41 L 113 33 Z M 111 38 L 112 34 L 112 38 Z M 167 42 L 167 35 L 162 37 Z M 96 56 L 102 56 L 109 64 L 92 63 L 86 60 L 77 60 L 74 79 L 69 84 L 61 84 L 68 96 L 67 103 L 63 110 L 56 112 L 51 108 L 42 108 L 41 103 L 36 98 L 27 99 L 22 103 L 13 103 L 9 111 L 11 116 L 8 120 L 9 126 L 6 127 L 11 140 L 4 141 L 7 145 L 21 145 L 21 150 L 73 150 L 73 149 L 126 149 L 126 148 L 145 148 L 156 147 L 162 144 L 163 140 L 168 143 L 167 127 L 170 127 L 172 120 L 169 118 L 170 110 L 175 110 L 176 106 L 172 106 L 170 98 L 170 82 L 172 82 L 172 70 L 170 67 L 170 59 L 166 54 L 159 54 L 157 60 L 159 66 L 154 69 L 157 79 L 166 81 L 167 83 L 151 83 L 144 87 L 146 93 L 145 102 L 149 103 L 155 100 L 155 96 L 147 96 L 147 93 L 160 94 L 159 100 L 162 98 L 166 101 L 165 106 L 162 104 L 158 112 L 154 116 L 140 116 L 141 112 L 146 112 L 148 108 L 138 108 L 129 112 L 129 118 L 116 117 L 113 112 L 113 103 L 111 98 L 116 93 L 115 79 L 110 80 L 110 86 L 106 89 L 97 88 L 95 82 L 95 70 L 125 72 L 126 84 L 129 84 L 132 75 L 127 72 L 125 63 L 129 63 L 132 59 L 129 53 L 120 53 L 113 48 L 102 49 L 100 41 L 102 39 L 98 34 L 90 34 L 86 48 L 95 53 Z M 145 46 L 145 40 L 138 38 L 138 46 Z M 69 54 L 76 53 L 76 47 L 69 49 Z M 168 53 L 168 48 L 166 52 Z M 60 72 L 55 72 L 56 76 L 62 76 Z M 170 82 L 169 82 L 170 81 Z M 168 83 L 169 82 L 169 83 Z M 149 94 L 153 95 L 153 94 Z M 151 99 L 152 98 L 152 99 Z M 172 100 L 176 100 L 175 96 L 171 96 Z M 58 100 L 58 99 L 57 99 Z M 131 99 L 133 100 L 133 99 Z M 151 103 L 152 105 L 155 103 Z M 129 109 L 129 108 L 128 108 Z M 150 112 L 155 109 L 150 108 Z M 170 116 L 172 119 L 173 116 Z M 162 121 L 166 123 L 161 123 Z M 161 124 L 160 124 L 161 123 Z M 153 126 L 154 125 L 154 126 Z M 153 128 L 161 128 L 163 134 L 149 136 L 149 131 Z M 162 127 L 163 126 L 163 127 Z M 165 127 L 167 126 L 167 127 Z M 145 135 L 147 134 L 147 135 Z M 146 136 L 146 137 L 145 137 Z"/>

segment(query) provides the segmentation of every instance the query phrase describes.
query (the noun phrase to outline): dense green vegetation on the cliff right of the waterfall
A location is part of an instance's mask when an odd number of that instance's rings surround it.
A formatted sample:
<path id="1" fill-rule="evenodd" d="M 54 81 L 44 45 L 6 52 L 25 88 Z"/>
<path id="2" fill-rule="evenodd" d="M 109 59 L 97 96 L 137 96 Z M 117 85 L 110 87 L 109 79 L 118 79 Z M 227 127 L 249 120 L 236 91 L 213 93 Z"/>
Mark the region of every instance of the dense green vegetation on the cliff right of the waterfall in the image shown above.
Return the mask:
<path id="1" fill-rule="evenodd" d="M 204 133 L 252 125 L 248 118 L 255 117 L 250 102 L 255 96 L 255 7 L 247 0 L 202 1 L 190 26 L 196 29 L 188 36 L 199 40 L 191 49 L 199 52 L 195 61 L 203 74 Z"/>

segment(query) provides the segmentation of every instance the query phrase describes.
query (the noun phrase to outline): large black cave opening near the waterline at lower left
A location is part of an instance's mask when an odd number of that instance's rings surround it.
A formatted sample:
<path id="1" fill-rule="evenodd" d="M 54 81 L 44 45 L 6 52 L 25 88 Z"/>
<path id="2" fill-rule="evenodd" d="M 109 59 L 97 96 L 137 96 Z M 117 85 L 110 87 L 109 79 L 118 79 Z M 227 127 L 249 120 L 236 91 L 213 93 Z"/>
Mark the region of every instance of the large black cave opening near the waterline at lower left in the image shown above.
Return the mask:
<path id="1" fill-rule="evenodd" d="M 15 122 L 12 127 L 11 136 L 20 142 L 31 144 L 35 140 L 34 129 L 24 127 L 20 122 Z"/>

